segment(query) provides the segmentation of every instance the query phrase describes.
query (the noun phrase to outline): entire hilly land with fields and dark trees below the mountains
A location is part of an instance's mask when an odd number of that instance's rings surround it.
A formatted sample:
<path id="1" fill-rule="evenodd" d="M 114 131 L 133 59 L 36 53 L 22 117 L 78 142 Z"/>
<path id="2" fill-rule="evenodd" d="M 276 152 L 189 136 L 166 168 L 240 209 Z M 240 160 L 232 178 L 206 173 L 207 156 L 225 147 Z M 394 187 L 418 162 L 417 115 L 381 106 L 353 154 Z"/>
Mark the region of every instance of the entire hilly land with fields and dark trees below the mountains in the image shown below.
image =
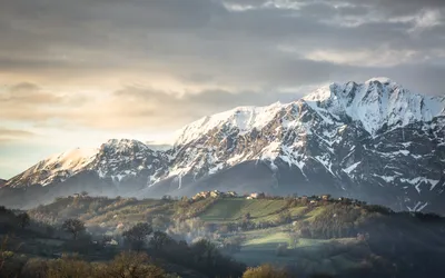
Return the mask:
<path id="1" fill-rule="evenodd" d="M 436 277 L 444 228 L 436 215 L 329 197 L 83 193 L 29 211 L 0 208 L 0 275 Z"/>

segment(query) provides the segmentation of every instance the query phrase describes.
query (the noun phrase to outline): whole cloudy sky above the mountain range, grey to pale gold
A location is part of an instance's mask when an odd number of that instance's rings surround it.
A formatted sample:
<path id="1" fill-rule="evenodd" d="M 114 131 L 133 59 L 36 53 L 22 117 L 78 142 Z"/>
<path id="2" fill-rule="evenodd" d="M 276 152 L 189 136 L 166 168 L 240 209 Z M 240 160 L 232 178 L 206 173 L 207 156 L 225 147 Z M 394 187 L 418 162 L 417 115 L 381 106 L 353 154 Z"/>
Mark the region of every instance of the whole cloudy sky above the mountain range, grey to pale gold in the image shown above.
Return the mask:
<path id="1" fill-rule="evenodd" d="M 0 0 L 0 178 L 388 77 L 445 93 L 443 0 Z"/>

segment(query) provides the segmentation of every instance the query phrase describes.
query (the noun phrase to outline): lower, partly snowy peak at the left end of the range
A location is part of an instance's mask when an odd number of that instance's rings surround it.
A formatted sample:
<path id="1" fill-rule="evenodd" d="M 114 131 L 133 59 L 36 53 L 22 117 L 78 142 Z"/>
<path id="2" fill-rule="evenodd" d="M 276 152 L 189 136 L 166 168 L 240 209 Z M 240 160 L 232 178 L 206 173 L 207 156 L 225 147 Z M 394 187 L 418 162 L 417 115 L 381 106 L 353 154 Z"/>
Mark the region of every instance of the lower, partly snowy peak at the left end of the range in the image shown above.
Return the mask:
<path id="1" fill-rule="evenodd" d="M 95 171 L 101 178 L 138 176 L 161 165 L 167 158 L 132 139 L 111 139 L 97 149 L 72 149 L 49 157 L 8 181 L 11 187 L 48 186 L 63 182 L 82 171 Z"/>

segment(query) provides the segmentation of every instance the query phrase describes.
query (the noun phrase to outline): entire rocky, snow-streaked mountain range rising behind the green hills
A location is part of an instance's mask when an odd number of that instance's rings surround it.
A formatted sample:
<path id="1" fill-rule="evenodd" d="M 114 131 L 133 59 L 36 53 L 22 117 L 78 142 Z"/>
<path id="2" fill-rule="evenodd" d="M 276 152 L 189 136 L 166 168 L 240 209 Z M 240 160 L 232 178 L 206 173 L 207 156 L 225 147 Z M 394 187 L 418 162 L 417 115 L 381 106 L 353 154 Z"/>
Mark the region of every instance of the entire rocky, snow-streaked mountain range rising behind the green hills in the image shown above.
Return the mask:
<path id="1" fill-rule="evenodd" d="M 9 180 L 0 198 L 27 202 L 33 190 L 44 201 L 53 188 L 136 197 L 218 189 L 332 193 L 445 212 L 444 107 L 443 97 L 386 78 L 333 83 L 290 103 L 205 117 L 179 130 L 168 150 L 110 140 L 52 157 Z"/>

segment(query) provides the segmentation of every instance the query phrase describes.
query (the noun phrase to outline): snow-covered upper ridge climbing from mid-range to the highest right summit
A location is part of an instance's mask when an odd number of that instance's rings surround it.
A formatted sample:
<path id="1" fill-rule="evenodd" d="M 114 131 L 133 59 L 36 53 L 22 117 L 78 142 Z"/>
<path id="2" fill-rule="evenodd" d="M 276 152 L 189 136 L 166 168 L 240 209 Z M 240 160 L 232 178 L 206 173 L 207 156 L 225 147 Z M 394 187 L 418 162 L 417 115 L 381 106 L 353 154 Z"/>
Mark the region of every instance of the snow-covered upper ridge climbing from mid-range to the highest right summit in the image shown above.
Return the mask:
<path id="1" fill-rule="evenodd" d="M 413 93 L 385 77 L 372 78 L 364 83 L 350 81 L 324 86 L 293 103 L 307 103 L 327 123 L 348 125 L 354 121 L 370 135 L 384 127 L 394 129 L 445 115 L 444 98 Z M 286 113 L 293 103 L 238 107 L 207 116 L 177 131 L 172 141 L 175 146 L 185 146 L 208 135 L 220 133 L 216 131 L 225 135 L 259 131 L 280 118 L 280 113 Z"/>

